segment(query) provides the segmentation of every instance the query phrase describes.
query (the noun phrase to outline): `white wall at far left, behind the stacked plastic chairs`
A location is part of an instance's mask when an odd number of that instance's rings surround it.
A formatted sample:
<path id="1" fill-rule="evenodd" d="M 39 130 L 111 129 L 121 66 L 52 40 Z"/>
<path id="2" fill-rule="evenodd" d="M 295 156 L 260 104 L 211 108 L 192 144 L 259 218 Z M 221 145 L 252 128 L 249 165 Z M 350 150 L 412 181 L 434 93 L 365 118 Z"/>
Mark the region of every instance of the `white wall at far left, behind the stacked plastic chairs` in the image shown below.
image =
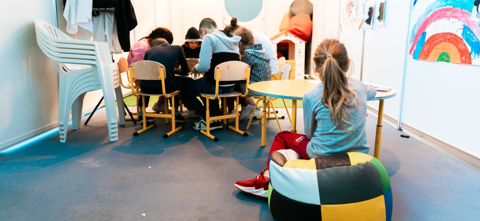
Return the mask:
<path id="1" fill-rule="evenodd" d="M 33 19 L 53 23 L 51 0 L 2 1 L 0 149 L 56 126 L 58 74 L 36 44 Z"/>

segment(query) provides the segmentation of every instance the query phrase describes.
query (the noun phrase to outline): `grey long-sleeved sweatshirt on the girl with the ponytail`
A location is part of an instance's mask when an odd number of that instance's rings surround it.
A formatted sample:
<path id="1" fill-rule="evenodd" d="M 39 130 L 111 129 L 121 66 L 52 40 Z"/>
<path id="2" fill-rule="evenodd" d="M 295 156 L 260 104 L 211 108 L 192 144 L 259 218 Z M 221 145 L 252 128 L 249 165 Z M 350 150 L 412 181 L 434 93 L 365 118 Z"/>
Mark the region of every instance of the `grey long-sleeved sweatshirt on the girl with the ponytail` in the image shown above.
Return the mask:
<path id="1" fill-rule="evenodd" d="M 366 144 L 366 101 L 376 94 L 374 86 L 366 85 L 355 78 L 348 78 L 348 86 L 356 93 L 358 105 L 351 108 L 350 122 L 343 123 L 339 130 L 331 122 L 328 107 L 321 103 L 322 84 L 316 85 L 303 95 L 303 122 L 305 135 L 310 139 L 306 152 L 310 158 L 344 152 L 368 153 L 370 146 Z M 350 99 L 353 99 L 350 96 Z"/>

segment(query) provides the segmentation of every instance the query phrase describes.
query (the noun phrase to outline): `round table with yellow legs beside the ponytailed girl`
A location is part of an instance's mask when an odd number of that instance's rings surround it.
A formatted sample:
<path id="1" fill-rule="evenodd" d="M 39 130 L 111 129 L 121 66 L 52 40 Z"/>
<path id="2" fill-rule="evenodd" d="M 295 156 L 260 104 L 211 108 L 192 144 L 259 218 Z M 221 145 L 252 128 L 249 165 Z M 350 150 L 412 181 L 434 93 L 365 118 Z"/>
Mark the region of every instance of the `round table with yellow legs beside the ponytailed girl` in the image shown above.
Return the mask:
<path id="1" fill-rule="evenodd" d="M 261 145 L 266 146 L 266 96 L 291 99 L 291 131 L 296 132 L 296 101 L 303 99 L 303 94 L 316 86 L 317 84 L 306 82 L 305 80 L 271 80 L 256 82 L 248 85 L 248 90 L 263 96 L 263 107 L 261 112 Z M 380 100 L 378 106 L 378 123 L 375 133 L 374 156 L 380 157 L 381 144 L 381 122 L 383 116 L 383 100 L 396 95 L 396 90 L 391 89 L 388 92 L 377 91 L 374 98 L 370 100 Z"/>

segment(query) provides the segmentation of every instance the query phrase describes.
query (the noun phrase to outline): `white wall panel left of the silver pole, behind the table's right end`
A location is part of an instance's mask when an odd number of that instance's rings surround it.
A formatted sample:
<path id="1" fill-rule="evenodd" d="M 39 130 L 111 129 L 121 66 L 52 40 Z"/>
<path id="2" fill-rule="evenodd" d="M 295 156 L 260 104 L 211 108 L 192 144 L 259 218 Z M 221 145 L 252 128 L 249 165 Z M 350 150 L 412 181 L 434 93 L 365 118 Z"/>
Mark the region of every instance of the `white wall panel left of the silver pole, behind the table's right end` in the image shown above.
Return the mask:
<path id="1" fill-rule="evenodd" d="M 385 3 L 384 27 L 365 30 L 362 81 L 395 88 L 397 96 L 385 100 L 383 113 L 398 120 L 400 92 L 408 30 L 409 3 L 389 0 Z M 378 109 L 378 101 L 368 105 Z"/>

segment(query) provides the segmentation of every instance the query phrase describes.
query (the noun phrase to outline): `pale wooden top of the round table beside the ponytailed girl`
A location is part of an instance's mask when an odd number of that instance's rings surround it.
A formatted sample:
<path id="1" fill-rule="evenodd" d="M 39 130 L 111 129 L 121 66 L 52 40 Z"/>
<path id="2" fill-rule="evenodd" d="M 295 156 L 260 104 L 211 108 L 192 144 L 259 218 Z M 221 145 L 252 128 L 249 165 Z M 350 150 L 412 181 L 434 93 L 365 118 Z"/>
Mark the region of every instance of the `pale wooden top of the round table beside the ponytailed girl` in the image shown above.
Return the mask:
<path id="1" fill-rule="evenodd" d="M 302 79 L 270 80 L 252 83 L 248 85 L 248 90 L 264 96 L 301 100 L 303 99 L 303 94 L 316 85 Z M 395 95 L 396 90 L 393 88 L 388 92 L 376 91 L 375 97 L 369 100 L 388 99 Z"/>

